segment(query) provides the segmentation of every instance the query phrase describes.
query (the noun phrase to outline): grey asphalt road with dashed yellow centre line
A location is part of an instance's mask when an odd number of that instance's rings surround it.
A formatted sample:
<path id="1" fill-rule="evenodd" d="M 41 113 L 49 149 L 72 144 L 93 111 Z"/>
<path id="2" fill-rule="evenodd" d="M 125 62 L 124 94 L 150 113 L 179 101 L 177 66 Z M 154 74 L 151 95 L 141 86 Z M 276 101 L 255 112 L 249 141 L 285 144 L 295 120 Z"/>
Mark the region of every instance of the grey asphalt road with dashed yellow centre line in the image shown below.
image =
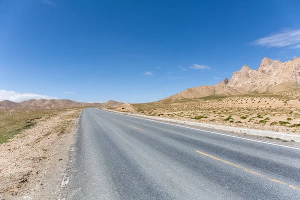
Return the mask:
<path id="1" fill-rule="evenodd" d="M 82 111 L 66 199 L 300 199 L 300 149 Z"/>

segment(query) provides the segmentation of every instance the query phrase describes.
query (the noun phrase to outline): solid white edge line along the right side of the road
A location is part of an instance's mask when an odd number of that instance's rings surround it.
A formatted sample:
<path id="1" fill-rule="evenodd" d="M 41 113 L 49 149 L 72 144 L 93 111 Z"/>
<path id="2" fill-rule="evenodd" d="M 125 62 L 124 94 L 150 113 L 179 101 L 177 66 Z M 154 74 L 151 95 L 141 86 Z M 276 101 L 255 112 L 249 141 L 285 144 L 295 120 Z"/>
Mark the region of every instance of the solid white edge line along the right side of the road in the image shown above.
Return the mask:
<path id="1" fill-rule="evenodd" d="M 103 109 L 101 109 L 101 110 L 103 110 Z M 103 110 L 103 111 L 106 111 L 106 110 Z M 109 112 L 109 111 L 106 111 L 106 112 Z M 111 111 L 110 111 L 110 112 L 111 112 Z M 117 113 L 117 112 L 113 112 L 113 113 L 119 114 L 119 113 Z M 188 126 L 184 126 L 184 125 L 178 125 L 178 124 L 173 124 L 173 123 L 166 123 L 166 122 L 162 122 L 162 121 L 156 121 L 156 120 L 147 119 L 147 118 L 142 118 L 142 117 L 137 117 L 137 116 L 131 116 L 131 115 L 128 115 L 128 114 L 123 114 L 123 115 L 125 115 L 125 116 L 130 116 L 130 117 L 134 117 L 134 118 L 145 119 L 145 120 L 149 120 L 149 121 L 155 121 L 155 122 L 159 122 L 159 123 L 165 123 L 165 124 L 169 124 L 169 125 L 180 126 L 180 127 L 189 128 L 189 129 L 194 129 L 194 130 L 200 130 L 200 131 L 205 131 L 205 132 L 211 132 L 211 133 L 214 133 L 214 134 L 220 134 L 220 135 L 225 135 L 225 136 L 229 136 L 229 137 L 235 137 L 235 138 L 240 138 L 240 139 L 245 139 L 245 140 L 250 140 L 250 141 L 256 141 L 256 142 L 260 142 L 260 143 L 266 143 L 266 144 L 271 144 L 271 145 L 282 146 L 282 147 L 286 147 L 286 148 L 293 148 L 293 149 L 300 150 L 300 148 L 292 147 L 292 146 L 285 146 L 285 145 L 281 145 L 281 144 L 269 143 L 269 142 L 266 142 L 266 141 L 258 141 L 258 140 L 255 140 L 255 139 L 248 139 L 248 138 L 244 138 L 244 137 L 238 137 L 238 136 L 234 136 L 234 135 L 223 134 L 223 133 L 213 132 L 213 131 L 209 131 L 209 130 L 202 130 L 202 129 L 192 128 L 192 127 L 188 127 Z M 258 136 L 259 136 L 259 135 L 258 135 Z"/>

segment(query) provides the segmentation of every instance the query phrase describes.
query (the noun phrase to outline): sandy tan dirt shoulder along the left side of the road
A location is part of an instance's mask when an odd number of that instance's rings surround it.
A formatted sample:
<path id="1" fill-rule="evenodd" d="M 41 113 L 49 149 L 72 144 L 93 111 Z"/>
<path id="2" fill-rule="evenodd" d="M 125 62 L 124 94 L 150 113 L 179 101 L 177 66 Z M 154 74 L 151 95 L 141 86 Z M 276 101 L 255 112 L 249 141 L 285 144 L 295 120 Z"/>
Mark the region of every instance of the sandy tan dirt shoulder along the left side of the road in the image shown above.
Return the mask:
<path id="1" fill-rule="evenodd" d="M 81 109 L 40 118 L 0 144 L 0 199 L 59 199 Z"/>

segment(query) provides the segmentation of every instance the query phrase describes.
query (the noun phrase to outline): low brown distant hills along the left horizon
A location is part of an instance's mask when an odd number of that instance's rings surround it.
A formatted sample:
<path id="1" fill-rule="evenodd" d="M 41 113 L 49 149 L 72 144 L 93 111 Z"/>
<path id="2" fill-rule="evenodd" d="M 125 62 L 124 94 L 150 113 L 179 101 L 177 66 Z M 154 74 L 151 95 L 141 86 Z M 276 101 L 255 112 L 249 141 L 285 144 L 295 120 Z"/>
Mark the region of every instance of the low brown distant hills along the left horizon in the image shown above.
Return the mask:
<path id="1" fill-rule="evenodd" d="M 21 102 L 0 101 L 0 110 L 9 109 L 62 109 L 72 107 L 102 106 L 102 103 L 85 103 L 69 99 L 29 99 Z"/>

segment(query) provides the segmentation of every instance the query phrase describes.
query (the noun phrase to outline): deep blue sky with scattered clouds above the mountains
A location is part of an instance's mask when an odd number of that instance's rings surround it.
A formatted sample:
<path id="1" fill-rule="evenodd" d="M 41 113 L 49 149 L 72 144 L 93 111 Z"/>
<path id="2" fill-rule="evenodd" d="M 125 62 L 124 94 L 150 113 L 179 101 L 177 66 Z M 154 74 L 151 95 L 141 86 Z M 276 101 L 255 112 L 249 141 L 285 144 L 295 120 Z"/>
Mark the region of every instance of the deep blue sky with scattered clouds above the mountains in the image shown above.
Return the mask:
<path id="1" fill-rule="evenodd" d="M 148 102 L 215 84 L 263 57 L 300 56 L 299 10 L 299 0 L 0 0 L 0 100 Z"/>

